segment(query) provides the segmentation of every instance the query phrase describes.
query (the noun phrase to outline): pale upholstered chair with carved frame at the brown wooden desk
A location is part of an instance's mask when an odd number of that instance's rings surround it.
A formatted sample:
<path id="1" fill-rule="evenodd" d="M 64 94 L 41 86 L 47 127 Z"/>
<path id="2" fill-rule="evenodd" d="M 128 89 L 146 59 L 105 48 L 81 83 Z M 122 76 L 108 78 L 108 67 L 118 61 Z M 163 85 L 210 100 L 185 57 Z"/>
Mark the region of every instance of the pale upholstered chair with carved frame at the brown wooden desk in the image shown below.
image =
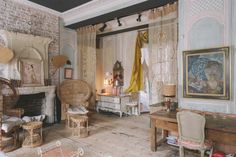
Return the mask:
<path id="1" fill-rule="evenodd" d="M 212 149 L 212 142 L 205 140 L 205 117 L 190 111 L 178 112 L 176 116 L 180 157 L 184 157 L 184 148 L 199 150 L 204 157 L 205 151 Z"/>

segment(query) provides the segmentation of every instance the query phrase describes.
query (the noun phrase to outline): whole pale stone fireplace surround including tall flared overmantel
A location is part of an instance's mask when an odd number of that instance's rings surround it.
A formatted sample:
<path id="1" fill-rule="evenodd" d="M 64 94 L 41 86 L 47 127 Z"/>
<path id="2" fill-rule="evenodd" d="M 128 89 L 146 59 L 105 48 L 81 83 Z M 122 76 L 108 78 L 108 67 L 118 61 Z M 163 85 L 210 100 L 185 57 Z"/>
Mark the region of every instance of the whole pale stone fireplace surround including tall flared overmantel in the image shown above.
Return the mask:
<path id="1" fill-rule="evenodd" d="M 1 77 L 21 80 L 23 74 L 19 69 L 19 61 L 24 58 L 42 60 L 43 70 L 41 75 L 43 79 L 49 78 L 48 46 L 52 42 L 51 38 L 0 30 L 0 39 L 4 46 L 14 51 L 14 58 L 11 62 L 6 65 L 0 65 L 3 70 Z M 47 116 L 47 123 L 54 123 L 55 90 L 55 86 L 44 86 L 43 81 L 41 81 L 41 86 L 18 87 L 19 95 L 45 93 L 46 101 L 44 101 L 45 104 L 42 106 L 42 114 Z"/>

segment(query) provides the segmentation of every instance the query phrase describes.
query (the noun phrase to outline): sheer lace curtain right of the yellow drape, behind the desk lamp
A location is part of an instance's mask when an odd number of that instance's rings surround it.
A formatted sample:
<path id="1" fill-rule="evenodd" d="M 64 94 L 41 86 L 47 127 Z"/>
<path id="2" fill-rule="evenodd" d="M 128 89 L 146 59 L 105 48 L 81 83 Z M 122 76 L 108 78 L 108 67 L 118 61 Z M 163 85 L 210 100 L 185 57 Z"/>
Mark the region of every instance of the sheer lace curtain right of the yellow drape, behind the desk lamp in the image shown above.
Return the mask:
<path id="1" fill-rule="evenodd" d="M 150 104 L 163 101 L 163 84 L 177 85 L 177 4 L 154 9 L 149 18 Z M 159 19 L 159 20 L 158 20 Z M 165 20 L 163 20 L 165 19 Z"/>

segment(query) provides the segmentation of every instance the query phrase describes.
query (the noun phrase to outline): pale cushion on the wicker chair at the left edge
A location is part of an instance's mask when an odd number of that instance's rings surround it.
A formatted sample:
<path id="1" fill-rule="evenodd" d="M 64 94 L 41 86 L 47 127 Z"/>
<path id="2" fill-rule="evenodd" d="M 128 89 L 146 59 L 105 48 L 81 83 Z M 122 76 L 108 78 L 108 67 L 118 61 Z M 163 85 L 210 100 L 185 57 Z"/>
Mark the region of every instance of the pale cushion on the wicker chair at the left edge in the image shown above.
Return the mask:
<path id="1" fill-rule="evenodd" d="M 8 117 L 8 118 L 3 117 L 2 130 L 7 133 L 11 131 L 11 129 L 14 128 L 15 126 L 19 126 L 23 123 L 24 123 L 23 120 L 18 117 Z"/>

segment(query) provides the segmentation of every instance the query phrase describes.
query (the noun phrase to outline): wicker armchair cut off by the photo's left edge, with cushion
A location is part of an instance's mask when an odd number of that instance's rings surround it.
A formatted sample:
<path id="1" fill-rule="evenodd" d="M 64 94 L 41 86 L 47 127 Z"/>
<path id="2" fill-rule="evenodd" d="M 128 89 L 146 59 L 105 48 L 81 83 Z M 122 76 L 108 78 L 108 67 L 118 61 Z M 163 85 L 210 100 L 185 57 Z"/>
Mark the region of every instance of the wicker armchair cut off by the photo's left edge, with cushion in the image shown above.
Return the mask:
<path id="1" fill-rule="evenodd" d="M 19 97 L 17 89 L 12 86 L 9 80 L 0 77 L 0 91 L 3 96 L 1 106 L 1 111 L 3 111 L 3 113 L 1 113 L 1 118 L 7 117 L 6 120 L 5 118 L 1 119 L 0 149 L 4 152 L 8 152 L 19 147 L 19 129 L 23 123 L 20 118 L 24 114 L 24 110 L 21 108 L 14 108 Z M 6 144 L 8 141 L 13 141 L 13 144 Z"/>

